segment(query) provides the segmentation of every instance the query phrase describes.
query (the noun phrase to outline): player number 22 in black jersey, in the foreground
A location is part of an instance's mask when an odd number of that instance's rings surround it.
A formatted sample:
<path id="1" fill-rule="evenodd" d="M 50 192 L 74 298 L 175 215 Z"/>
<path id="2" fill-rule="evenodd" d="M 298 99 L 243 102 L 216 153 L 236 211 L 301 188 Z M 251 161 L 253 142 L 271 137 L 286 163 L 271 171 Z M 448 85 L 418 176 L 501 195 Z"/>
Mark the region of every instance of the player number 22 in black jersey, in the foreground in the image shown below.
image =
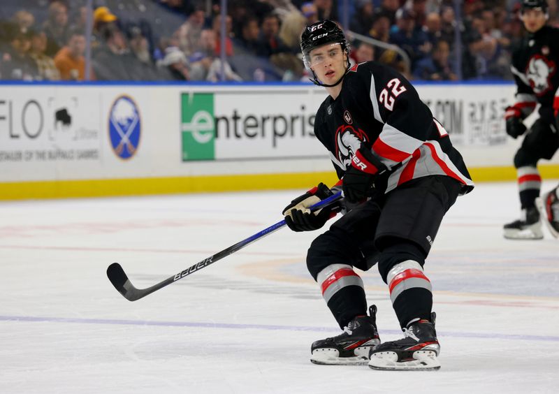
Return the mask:
<path id="1" fill-rule="evenodd" d="M 349 44 L 334 22 L 310 25 L 301 36 L 305 66 L 328 97 L 314 133 L 330 152 L 344 191 L 345 214 L 307 252 L 307 268 L 344 333 L 314 342 L 317 364 L 369 363 L 375 369 L 438 369 L 440 350 L 423 272 L 442 217 L 473 188 L 462 157 L 410 83 L 373 61 L 350 68 Z M 324 226 L 336 208 L 307 207 L 333 192 L 319 184 L 283 214 L 293 231 Z M 379 344 L 376 307 L 367 316 L 363 281 L 354 268 L 378 263 L 402 340 Z"/>

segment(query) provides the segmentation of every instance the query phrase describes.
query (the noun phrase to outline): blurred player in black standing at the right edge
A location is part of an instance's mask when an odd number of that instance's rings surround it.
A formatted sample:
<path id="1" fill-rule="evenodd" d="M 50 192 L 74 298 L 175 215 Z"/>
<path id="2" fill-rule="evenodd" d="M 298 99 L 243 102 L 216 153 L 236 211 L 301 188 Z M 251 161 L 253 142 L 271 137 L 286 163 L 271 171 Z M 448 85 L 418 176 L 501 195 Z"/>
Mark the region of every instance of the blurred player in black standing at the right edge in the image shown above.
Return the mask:
<path id="1" fill-rule="evenodd" d="M 514 156 L 521 203 L 521 219 L 505 224 L 504 238 L 544 238 L 540 214 L 535 206 L 542 187 L 537 170 L 539 159 L 551 159 L 559 147 L 553 117 L 553 96 L 559 87 L 559 29 L 546 26 L 545 0 L 523 0 L 521 19 L 527 31 L 512 54 L 511 71 L 516 81 L 516 103 L 505 112 L 507 133 L 512 138 L 526 132 L 523 119 L 539 104 L 539 118 L 526 133 Z"/>

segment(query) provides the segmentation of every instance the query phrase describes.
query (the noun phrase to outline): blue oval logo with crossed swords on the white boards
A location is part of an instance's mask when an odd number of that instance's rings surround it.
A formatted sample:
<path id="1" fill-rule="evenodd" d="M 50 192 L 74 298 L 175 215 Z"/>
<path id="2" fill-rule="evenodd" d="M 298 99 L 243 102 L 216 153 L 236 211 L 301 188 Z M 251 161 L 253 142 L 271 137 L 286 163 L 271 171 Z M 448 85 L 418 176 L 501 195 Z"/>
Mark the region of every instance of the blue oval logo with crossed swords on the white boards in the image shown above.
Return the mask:
<path id="1" fill-rule="evenodd" d="M 129 96 L 119 96 L 109 113 L 109 138 L 119 158 L 130 159 L 140 144 L 142 122 L 138 106 Z"/>

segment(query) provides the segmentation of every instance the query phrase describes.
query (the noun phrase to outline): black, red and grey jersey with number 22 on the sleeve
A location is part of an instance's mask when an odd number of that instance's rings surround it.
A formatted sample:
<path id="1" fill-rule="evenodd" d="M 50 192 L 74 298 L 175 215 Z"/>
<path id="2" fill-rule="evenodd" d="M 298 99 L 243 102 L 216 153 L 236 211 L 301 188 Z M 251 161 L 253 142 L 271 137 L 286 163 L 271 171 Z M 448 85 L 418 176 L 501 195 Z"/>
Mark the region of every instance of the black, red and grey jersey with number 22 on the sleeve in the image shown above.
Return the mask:
<path id="1" fill-rule="evenodd" d="M 386 192 L 428 175 L 453 177 L 463 184 L 462 194 L 474 187 L 449 133 L 414 87 L 397 71 L 374 61 L 350 68 L 340 95 L 328 96 L 317 111 L 314 134 L 330 152 L 340 179 L 365 145 L 393 169 Z"/>

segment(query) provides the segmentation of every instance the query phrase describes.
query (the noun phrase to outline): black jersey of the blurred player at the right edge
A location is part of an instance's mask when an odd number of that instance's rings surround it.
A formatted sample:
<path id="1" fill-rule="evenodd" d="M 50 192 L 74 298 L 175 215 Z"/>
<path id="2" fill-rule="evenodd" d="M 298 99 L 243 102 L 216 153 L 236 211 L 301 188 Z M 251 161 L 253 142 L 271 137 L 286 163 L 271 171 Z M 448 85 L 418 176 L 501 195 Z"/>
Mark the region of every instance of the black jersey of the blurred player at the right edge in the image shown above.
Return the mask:
<path id="1" fill-rule="evenodd" d="M 523 117 L 530 115 L 536 105 L 539 117 L 553 122 L 553 103 L 559 87 L 559 29 L 544 26 L 535 33 L 528 33 L 513 50 L 511 72 L 516 81 L 516 103 Z"/>

